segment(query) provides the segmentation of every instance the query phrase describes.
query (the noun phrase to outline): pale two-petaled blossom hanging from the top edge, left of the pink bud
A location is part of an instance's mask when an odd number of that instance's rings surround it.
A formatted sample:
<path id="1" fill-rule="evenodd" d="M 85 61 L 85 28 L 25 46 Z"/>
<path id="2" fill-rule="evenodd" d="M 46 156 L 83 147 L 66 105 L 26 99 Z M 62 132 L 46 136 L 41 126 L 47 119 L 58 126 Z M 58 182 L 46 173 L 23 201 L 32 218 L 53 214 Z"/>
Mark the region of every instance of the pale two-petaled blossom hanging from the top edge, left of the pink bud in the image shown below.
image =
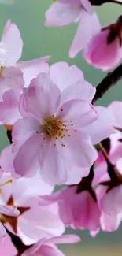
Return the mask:
<path id="1" fill-rule="evenodd" d="M 62 27 L 79 22 L 79 27 L 69 50 L 69 56 L 74 58 L 79 51 L 87 46 L 92 36 L 98 32 L 100 24 L 93 6 L 88 0 L 58 0 L 46 12 L 46 26 Z"/>

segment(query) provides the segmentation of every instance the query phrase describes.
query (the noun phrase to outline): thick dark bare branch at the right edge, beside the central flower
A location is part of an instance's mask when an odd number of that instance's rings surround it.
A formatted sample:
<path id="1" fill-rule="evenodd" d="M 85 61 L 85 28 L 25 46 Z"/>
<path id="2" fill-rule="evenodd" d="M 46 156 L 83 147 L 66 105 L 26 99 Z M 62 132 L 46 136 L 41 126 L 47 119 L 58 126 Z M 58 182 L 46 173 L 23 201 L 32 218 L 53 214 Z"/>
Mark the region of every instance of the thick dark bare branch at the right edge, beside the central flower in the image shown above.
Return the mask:
<path id="1" fill-rule="evenodd" d="M 109 91 L 120 79 L 122 78 L 122 64 L 106 76 L 101 83 L 96 87 L 96 93 L 93 98 L 93 102 L 97 102 L 99 98 L 105 95 L 106 91 Z"/>

